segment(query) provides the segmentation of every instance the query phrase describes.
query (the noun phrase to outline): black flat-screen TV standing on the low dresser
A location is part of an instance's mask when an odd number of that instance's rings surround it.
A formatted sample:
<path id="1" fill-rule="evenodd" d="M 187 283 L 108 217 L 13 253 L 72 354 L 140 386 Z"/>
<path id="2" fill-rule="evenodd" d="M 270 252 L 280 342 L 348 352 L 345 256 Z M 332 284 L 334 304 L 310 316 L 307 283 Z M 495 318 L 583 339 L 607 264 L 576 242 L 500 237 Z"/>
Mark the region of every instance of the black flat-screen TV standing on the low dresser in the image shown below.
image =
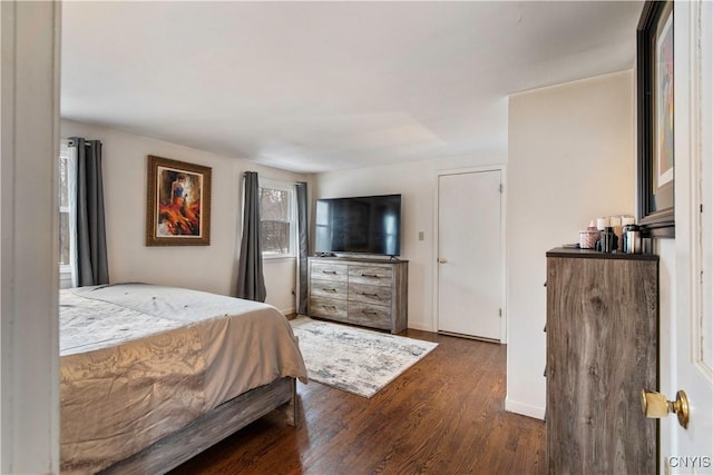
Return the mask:
<path id="1" fill-rule="evenodd" d="M 401 254 L 401 195 L 316 200 L 316 253 Z"/>

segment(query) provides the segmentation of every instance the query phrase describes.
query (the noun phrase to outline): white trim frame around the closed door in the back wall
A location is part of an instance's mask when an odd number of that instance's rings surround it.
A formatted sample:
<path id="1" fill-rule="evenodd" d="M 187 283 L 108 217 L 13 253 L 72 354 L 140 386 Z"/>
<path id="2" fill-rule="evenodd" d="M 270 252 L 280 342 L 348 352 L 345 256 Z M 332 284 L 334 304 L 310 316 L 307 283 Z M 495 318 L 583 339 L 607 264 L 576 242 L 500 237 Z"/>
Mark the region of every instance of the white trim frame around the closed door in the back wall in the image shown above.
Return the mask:
<path id="1" fill-rule="evenodd" d="M 502 308 L 502 316 L 500 318 L 500 344 L 506 345 L 508 343 L 508 310 L 507 310 L 507 281 L 508 281 L 508 268 L 506 263 L 506 209 L 507 209 L 507 166 L 505 164 L 484 165 L 479 167 L 466 167 L 455 168 L 436 171 L 436 186 L 433 197 L 433 259 L 431 261 L 433 271 L 433 311 L 432 311 L 432 328 L 438 333 L 439 323 L 439 273 L 440 266 L 438 265 L 438 254 L 440 249 L 439 243 L 439 197 L 440 197 L 440 177 L 448 175 L 466 175 L 466 174 L 479 174 L 484 171 L 500 171 L 500 184 L 502 185 L 502 192 L 500 194 L 500 308 Z"/>

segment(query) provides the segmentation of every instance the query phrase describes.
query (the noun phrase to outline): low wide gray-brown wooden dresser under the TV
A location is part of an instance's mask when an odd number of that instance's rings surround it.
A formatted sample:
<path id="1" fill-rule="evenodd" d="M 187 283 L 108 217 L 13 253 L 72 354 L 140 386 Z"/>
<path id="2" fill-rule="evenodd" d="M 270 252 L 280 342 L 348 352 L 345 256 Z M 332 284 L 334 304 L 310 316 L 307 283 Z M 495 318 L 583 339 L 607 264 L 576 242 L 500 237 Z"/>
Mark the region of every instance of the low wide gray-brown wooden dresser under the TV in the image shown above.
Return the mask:
<path id="1" fill-rule="evenodd" d="M 408 326 L 408 260 L 311 257 L 310 316 L 380 328 Z"/>

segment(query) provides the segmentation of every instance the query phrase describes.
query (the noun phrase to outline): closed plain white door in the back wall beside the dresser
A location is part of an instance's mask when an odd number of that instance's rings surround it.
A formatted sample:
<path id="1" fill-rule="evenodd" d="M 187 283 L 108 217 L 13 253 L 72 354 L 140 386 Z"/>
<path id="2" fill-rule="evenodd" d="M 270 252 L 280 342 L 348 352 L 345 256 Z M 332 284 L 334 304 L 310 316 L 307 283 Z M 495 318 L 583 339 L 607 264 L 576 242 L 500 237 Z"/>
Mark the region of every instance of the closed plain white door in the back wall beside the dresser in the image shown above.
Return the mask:
<path id="1" fill-rule="evenodd" d="M 501 339 L 501 170 L 438 178 L 438 330 Z"/>

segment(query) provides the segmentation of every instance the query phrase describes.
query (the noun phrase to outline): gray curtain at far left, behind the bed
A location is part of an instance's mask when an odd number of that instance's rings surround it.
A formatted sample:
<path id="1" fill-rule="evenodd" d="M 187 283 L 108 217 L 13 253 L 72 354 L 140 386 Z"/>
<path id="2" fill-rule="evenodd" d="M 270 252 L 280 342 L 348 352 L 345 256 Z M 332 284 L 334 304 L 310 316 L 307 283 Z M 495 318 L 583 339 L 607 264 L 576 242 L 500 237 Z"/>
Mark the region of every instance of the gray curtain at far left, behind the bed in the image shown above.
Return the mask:
<path id="1" fill-rule="evenodd" d="M 108 284 L 101 142 L 72 137 L 69 146 L 77 148 L 77 285 Z"/>

